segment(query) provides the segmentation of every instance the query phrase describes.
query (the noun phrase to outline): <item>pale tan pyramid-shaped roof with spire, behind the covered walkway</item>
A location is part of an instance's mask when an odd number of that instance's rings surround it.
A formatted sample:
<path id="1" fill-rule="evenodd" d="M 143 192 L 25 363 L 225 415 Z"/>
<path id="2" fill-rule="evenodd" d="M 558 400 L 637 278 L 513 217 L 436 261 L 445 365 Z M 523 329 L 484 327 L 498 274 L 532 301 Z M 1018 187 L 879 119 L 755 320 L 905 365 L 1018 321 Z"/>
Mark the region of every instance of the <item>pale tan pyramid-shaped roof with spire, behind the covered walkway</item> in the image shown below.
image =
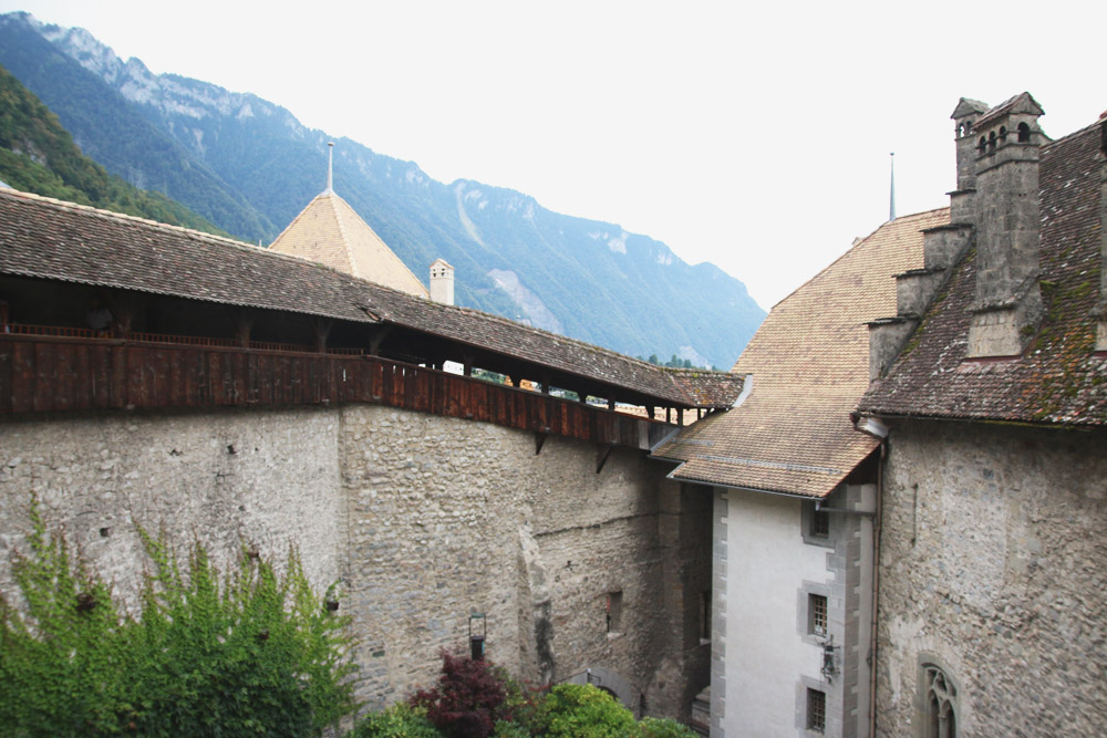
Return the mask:
<path id="1" fill-rule="evenodd" d="M 401 292 L 430 297 L 400 257 L 332 190 L 317 195 L 269 248 Z"/>

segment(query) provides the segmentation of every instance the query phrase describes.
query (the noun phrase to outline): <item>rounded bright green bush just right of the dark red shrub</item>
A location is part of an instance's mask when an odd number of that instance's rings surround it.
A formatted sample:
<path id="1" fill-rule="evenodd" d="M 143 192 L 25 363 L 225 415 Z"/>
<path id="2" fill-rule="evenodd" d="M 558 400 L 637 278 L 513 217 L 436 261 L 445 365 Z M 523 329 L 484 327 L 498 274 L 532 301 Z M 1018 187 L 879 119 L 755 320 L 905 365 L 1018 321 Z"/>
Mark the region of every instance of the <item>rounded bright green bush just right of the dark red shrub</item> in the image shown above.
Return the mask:
<path id="1" fill-rule="evenodd" d="M 633 714 L 590 684 L 559 684 L 538 708 L 536 732 L 551 738 L 639 736 Z"/>

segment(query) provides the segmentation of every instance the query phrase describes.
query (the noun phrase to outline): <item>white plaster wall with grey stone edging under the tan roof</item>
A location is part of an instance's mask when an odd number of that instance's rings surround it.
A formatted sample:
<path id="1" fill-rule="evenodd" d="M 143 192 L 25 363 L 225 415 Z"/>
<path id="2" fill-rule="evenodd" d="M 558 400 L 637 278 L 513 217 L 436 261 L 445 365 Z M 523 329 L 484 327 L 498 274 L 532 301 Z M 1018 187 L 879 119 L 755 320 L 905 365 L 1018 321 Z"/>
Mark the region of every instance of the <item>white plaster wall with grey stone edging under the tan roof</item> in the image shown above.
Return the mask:
<path id="1" fill-rule="evenodd" d="M 795 736 L 795 685 L 818 679 L 820 665 L 818 646 L 797 632 L 797 593 L 805 581 L 830 584 L 827 549 L 804 543 L 799 500 L 726 495 L 723 727 L 727 738 Z"/>

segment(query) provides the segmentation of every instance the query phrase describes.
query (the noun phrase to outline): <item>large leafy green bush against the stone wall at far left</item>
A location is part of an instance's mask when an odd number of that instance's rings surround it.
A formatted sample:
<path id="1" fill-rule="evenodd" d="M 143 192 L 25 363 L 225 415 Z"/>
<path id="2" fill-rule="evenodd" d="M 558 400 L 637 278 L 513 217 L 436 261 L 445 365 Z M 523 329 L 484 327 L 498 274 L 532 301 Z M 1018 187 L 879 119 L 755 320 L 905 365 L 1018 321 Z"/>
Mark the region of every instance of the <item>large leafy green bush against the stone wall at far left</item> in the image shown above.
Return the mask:
<path id="1" fill-rule="evenodd" d="M 0 599 L 6 735 L 320 735 L 354 708 L 345 619 L 330 615 L 294 550 L 284 573 L 244 551 L 223 584 L 203 545 L 187 568 L 139 529 L 151 569 L 136 620 L 46 534 L 32 500 L 25 601 Z"/>

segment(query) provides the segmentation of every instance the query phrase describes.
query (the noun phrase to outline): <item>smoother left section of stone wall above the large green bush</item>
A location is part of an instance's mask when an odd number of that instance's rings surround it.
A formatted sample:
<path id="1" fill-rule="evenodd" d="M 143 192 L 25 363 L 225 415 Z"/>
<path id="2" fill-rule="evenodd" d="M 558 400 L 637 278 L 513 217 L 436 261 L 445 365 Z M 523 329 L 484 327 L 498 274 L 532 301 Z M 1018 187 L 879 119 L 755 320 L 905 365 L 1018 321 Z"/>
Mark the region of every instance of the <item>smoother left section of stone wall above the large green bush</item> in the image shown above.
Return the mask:
<path id="1" fill-rule="evenodd" d="M 134 603 L 135 523 L 195 537 L 220 568 L 242 542 L 282 560 L 299 545 L 317 586 L 335 581 L 345 547 L 338 495 L 339 414 L 303 409 L 101 414 L 0 422 L 0 590 L 10 549 L 29 531 L 31 492 L 51 529 Z M 25 548 L 25 547 L 22 547 Z"/>

